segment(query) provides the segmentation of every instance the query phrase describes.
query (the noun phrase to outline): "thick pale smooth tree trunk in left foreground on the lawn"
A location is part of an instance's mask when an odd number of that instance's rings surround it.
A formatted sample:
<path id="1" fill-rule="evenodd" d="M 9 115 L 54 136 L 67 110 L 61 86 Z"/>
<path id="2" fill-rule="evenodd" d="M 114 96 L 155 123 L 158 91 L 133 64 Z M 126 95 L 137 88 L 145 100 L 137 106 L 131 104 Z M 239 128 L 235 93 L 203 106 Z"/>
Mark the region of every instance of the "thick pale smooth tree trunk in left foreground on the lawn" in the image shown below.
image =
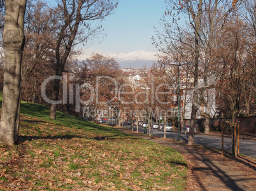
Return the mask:
<path id="1" fill-rule="evenodd" d="M 0 142 L 13 145 L 18 142 L 20 122 L 21 62 L 25 43 L 25 0 L 5 1 L 4 21 L 4 88 L 1 112 Z"/>

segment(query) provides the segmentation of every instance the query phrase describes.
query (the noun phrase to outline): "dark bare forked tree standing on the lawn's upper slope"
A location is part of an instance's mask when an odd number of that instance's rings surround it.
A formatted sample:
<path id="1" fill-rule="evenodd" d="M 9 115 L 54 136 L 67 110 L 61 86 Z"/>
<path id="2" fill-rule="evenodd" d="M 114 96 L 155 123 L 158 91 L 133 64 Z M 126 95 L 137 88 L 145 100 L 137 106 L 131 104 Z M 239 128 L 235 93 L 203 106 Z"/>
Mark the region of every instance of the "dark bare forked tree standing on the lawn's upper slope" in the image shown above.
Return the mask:
<path id="1" fill-rule="evenodd" d="M 56 76 L 62 76 L 66 66 L 66 61 L 70 56 L 71 49 L 80 43 L 86 43 L 90 37 L 95 37 L 101 30 L 101 26 L 92 21 L 103 20 L 106 16 L 113 13 L 117 7 L 115 0 L 62 0 L 57 8 L 52 8 L 53 15 L 59 16 L 57 30 L 55 32 L 55 43 L 53 51 L 55 59 L 53 68 Z M 60 79 L 53 82 L 52 100 L 59 98 Z M 56 119 L 57 105 L 50 107 L 50 118 Z"/>

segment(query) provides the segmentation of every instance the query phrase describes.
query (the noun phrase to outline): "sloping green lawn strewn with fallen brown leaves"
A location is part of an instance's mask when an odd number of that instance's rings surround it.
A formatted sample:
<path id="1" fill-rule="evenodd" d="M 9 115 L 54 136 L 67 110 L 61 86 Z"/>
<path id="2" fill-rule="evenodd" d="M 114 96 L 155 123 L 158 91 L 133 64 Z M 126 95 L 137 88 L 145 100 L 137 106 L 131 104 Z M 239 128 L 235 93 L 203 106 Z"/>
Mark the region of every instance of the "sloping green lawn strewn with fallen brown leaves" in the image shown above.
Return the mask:
<path id="1" fill-rule="evenodd" d="M 0 190 L 185 190 L 176 150 L 21 103 L 20 144 L 0 143 Z"/>

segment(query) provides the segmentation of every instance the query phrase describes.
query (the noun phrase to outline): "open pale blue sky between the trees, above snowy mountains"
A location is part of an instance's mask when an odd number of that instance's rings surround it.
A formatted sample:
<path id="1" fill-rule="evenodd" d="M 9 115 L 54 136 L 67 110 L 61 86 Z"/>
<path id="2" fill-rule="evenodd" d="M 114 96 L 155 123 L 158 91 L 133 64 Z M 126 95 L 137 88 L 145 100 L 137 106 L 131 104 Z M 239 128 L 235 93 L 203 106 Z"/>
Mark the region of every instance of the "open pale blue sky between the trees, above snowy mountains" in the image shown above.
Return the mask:
<path id="1" fill-rule="evenodd" d="M 164 0 L 119 0 L 115 13 L 103 21 L 107 36 L 99 37 L 101 43 L 94 41 L 85 55 L 156 51 L 151 39 L 155 31 L 153 25 L 159 27 L 165 8 Z"/>

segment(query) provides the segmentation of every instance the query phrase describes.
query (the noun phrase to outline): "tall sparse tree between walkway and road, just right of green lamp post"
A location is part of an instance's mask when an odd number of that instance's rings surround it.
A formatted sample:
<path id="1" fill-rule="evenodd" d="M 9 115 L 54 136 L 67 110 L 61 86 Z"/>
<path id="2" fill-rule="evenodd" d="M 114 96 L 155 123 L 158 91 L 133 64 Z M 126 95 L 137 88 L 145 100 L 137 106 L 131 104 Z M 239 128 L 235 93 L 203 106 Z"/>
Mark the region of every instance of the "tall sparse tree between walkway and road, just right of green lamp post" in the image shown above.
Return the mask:
<path id="1" fill-rule="evenodd" d="M 225 23 L 227 15 L 234 8 L 233 3 L 227 3 L 226 1 L 174 1 L 166 0 L 169 9 L 166 11 L 166 17 L 171 17 L 173 20 L 173 25 L 169 22 L 164 23 L 164 35 L 160 37 L 159 50 L 173 55 L 173 41 L 178 41 L 184 44 L 191 50 L 191 58 L 193 58 L 194 67 L 194 93 L 192 102 L 192 112 L 190 126 L 194 127 L 196 125 L 197 110 L 201 107 L 204 101 L 204 91 L 208 84 L 209 76 L 209 65 L 210 65 L 210 55 L 211 47 L 215 41 L 216 31 L 222 29 L 222 25 Z M 184 16 L 187 20 L 187 25 L 180 27 L 177 20 Z M 205 22 L 203 22 L 203 20 Z M 171 39 L 170 44 L 166 37 Z M 164 39 L 164 41 L 161 41 Z M 190 39 L 190 41 L 188 41 Z M 193 42 L 193 43 L 191 43 Z M 203 79 L 201 87 L 199 86 L 199 76 Z M 194 143 L 194 128 L 190 129 L 190 135 L 188 137 L 188 145 Z"/>

